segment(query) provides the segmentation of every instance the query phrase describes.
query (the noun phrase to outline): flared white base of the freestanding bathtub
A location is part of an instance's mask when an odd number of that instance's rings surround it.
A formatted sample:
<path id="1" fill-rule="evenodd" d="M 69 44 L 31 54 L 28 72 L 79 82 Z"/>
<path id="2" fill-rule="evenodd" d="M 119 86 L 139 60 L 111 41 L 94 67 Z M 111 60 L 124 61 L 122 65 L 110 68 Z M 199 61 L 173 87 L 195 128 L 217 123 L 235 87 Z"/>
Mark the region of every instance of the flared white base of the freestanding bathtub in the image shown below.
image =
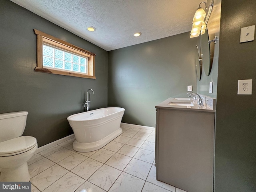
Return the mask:
<path id="1" fill-rule="evenodd" d="M 115 130 L 108 136 L 102 138 L 101 140 L 98 140 L 96 142 L 91 143 L 80 143 L 78 141 L 73 142 L 73 149 L 77 152 L 92 152 L 95 150 L 98 150 L 105 145 L 107 145 L 110 141 L 114 140 L 114 138 L 118 137 L 122 134 L 122 128 L 119 127 L 118 130 Z"/>

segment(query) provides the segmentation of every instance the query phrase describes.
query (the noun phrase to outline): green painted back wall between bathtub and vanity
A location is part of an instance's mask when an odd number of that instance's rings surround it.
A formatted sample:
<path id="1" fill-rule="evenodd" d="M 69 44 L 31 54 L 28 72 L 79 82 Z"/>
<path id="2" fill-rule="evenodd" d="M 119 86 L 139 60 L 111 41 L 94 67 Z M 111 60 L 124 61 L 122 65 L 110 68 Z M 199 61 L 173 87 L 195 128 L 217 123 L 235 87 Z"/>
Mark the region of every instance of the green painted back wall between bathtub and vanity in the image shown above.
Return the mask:
<path id="1" fill-rule="evenodd" d="M 154 127 L 157 104 L 196 90 L 196 41 L 187 32 L 108 52 L 108 106 L 125 108 L 122 122 Z"/>

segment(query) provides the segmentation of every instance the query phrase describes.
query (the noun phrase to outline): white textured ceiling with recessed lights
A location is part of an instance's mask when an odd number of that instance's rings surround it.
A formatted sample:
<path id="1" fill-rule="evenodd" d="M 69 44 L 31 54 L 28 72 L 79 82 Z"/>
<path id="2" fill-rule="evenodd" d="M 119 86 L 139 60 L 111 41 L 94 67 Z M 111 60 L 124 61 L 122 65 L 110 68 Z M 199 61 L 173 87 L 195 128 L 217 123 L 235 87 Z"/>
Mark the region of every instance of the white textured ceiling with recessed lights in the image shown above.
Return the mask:
<path id="1" fill-rule="evenodd" d="M 11 0 L 110 51 L 184 32 L 201 0 Z M 94 26 L 89 32 L 86 26 Z M 140 37 L 134 37 L 141 32 Z M 47 32 L 46 32 L 47 33 Z"/>

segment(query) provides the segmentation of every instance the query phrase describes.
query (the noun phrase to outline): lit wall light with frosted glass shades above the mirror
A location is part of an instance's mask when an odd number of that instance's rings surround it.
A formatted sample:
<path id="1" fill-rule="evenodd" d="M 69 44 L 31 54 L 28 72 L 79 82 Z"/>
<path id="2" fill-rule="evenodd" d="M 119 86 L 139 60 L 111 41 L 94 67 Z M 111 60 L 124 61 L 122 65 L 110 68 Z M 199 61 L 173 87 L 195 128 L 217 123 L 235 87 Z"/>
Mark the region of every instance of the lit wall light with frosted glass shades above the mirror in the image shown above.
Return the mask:
<path id="1" fill-rule="evenodd" d="M 204 3 L 205 4 L 205 9 L 207 10 L 207 12 L 204 11 L 204 9 L 202 7 L 200 7 L 200 5 Z M 213 0 L 210 3 L 210 5 L 208 6 L 208 8 L 206 7 L 206 2 L 201 2 L 196 10 L 196 13 L 194 15 L 193 18 L 193 25 L 192 25 L 192 30 L 190 33 L 190 38 L 193 37 L 198 37 L 201 33 L 204 34 L 205 30 L 206 30 L 206 24 L 209 20 L 210 14 L 212 12 L 212 7 L 213 7 Z"/>

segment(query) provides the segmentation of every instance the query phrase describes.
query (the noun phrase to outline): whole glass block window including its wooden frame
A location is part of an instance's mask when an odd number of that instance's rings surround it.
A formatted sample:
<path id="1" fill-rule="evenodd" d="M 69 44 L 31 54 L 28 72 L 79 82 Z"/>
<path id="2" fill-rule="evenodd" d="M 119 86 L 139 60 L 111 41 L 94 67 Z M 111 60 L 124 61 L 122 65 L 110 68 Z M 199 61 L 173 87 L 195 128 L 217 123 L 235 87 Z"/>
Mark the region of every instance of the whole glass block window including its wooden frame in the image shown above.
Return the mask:
<path id="1" fill-rule="evenodd" d="M 34 29 L 37 64 L 34 71 L 82 78 L 95 77 L 95 54 Z"/>

